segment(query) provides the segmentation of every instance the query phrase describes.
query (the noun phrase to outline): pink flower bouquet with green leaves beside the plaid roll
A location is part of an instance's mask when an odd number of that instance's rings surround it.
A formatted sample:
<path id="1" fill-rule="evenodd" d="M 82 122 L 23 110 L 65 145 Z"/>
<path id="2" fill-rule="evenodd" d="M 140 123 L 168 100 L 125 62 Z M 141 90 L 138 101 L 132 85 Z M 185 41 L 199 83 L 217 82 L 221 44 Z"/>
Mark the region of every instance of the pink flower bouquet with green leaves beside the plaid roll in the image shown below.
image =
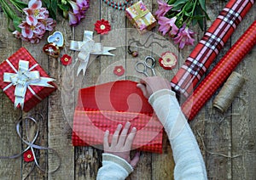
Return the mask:
<path id="1" fill-rule="evenodd" d="M 205 0 L 158 0 L 158 4 L 155 16 L 159 31 L 163 35 L 168 33 L 179 48 L 194 45 L 195 32 L 189 29 L 189 25 L 198 24 L 203 31 L 203 20 L 209 20 Z"/>

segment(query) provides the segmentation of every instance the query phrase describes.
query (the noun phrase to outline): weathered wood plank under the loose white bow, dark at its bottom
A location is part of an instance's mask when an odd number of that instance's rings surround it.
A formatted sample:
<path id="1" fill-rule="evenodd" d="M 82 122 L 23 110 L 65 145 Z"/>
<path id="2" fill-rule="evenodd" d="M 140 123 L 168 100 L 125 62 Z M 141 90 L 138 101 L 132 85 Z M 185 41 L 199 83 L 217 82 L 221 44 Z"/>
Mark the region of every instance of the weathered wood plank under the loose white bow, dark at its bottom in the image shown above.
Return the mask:
<path id="1" fill-rule="evenodd" d="M 96 20 L 101 20 L 101 2 L 90 1 L 90 8 L 86 12 L 86 17 L 80 25 L 75 28 L 75 40 L 81 41 L 83 39 L 84 30 L 94 31 L 94 24 Z M 94 40 L 100 42 L 100 38 L 96 36 L 94 31 Z M 78 98 L 77 94 L 80 88 L 94 86 L 97 82 L 97 78 L 100 74 L 100 58 L 96 56 L 90 56 L 90 61 L 87 66 L 85 76 L 80 74 L 76 76 L 75 69 L 75 97 Z M 75 99 L 75 102 L 77 99 Z M 76 104 L 75 104 L 76 105 Z M 93 147 L 75 147 L 75 179 L 96 179 L 97 170 L 101 164 L 101 155 L 97 149 Z"/>

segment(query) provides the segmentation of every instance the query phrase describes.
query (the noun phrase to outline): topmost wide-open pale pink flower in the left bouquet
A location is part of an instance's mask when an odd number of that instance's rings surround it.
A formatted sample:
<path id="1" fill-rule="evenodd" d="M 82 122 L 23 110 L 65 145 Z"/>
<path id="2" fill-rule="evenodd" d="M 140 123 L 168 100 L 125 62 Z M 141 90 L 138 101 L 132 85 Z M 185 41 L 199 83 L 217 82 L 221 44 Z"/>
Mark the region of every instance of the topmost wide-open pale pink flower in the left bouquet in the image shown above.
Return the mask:
<path id="1" fill-rule="evenodd" d="M 23 9 L 24 13 L 26 14 L 26 21 L 28 24 L 37 24 L 38 20 L 44 20 L 48 18 L 48 10 L 41 7 L 42 2 L 40 0 L 31 0 L 28 3 L 28 8 Z"/>

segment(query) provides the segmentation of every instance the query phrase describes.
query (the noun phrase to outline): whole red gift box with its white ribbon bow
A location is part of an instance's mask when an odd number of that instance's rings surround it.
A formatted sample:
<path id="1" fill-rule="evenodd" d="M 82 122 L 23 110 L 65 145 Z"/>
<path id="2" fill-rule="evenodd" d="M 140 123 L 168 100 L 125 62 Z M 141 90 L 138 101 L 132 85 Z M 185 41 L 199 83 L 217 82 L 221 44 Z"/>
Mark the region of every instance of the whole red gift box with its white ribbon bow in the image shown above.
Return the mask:
<path id="1" fill-rule="evenodd" d="M 26 50 L 20 48 L 0 64 L 0 87 L 15 104 L 15 108 L 29 111 L 55 91 L 54 79 Z"/>

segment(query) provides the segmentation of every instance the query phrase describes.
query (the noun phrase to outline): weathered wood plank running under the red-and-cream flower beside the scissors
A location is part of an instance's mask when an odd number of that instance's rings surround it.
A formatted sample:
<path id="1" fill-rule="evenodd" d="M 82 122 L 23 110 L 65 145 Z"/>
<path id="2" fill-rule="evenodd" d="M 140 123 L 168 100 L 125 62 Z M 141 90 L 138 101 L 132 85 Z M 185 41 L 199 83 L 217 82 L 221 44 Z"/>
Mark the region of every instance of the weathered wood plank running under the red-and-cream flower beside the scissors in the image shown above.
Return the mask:
<path id="1" fill-rule="evenodd" d="M 157 0 L 152 1 L 152 13 L 158 9 Z M 158 31 L 159 25 L 157 25 L 152 31 L 154 33 L 154 38 L 152 41 L 152 56 L 157 61 L 156 63 L 156 74 L 157 76 L 165 77 L 167 80 L 171 80 L 175 75 L 178 68 L 173 70 L 164 70 L 159 62 L 160 56 L 162 53 L 170 51 L 175 53 L 178 57 L 179 52 L 177 46 L 168 36 L 163 37 Z M 180 59 L 179 61 L 183 61 Z M 178 65 L 177 65 L 178 67 Z M 152 179 L 173 179 L 173 170 L 174 170 L 174 160 L 172 157 L 172 149 L 169 142 L 169 139 L 164 131 L 163 136 L 163 154 L 153 154 L 152 155 Z"/>

